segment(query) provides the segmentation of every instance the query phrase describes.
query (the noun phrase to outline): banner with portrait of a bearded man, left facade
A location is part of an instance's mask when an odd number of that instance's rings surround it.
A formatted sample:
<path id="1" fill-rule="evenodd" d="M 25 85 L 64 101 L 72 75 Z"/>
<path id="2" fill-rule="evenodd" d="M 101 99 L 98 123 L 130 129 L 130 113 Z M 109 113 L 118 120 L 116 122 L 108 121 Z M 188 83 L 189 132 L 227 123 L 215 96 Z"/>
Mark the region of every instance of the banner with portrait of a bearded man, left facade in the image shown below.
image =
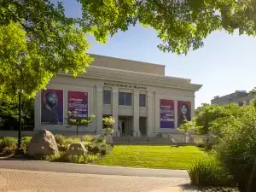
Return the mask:
<path id="1" fill-rule="evenodd" d="M 63 124 L 63 90 L 41 90 L 41 124 Z"/>

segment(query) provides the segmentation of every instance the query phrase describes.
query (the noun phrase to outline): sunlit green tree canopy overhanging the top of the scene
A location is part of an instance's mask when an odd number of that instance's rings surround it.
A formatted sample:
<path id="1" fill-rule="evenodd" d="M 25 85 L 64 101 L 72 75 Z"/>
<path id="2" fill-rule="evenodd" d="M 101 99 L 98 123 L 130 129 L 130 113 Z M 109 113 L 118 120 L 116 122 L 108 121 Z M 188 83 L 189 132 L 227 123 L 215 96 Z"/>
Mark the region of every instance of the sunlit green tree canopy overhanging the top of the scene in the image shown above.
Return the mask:
<path id="1" fill-rule="evenodd" d="M 71 1 L 71 0 L 69 0 Z M 86 33 L 108 35 L 141 23 L 161 39 L 159 49 L 187 54 L 215 30 L 255 36 L 255 0 L 73 0 L 82 16 L 68 18 L 61 2 L 0 0 L 0 97 L 34 96 L 60 70 L 84 73 Z"/>

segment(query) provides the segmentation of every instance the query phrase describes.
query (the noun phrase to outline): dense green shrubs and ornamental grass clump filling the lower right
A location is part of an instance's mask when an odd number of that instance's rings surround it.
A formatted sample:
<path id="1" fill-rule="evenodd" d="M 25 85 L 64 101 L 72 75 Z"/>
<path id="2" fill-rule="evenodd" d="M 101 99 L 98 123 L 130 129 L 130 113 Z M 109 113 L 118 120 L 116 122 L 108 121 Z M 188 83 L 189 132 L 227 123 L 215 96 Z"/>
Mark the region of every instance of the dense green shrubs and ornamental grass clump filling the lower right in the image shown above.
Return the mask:
<path id="1" fill-rule="evenodd" d="M 205 104 L 180 129 L 210 135 L 198 143 L 209 155 L 189 166 L 192 184 L 213 186 L 209 191 L 256 191 L 256 100 L 243 107 Z"/>

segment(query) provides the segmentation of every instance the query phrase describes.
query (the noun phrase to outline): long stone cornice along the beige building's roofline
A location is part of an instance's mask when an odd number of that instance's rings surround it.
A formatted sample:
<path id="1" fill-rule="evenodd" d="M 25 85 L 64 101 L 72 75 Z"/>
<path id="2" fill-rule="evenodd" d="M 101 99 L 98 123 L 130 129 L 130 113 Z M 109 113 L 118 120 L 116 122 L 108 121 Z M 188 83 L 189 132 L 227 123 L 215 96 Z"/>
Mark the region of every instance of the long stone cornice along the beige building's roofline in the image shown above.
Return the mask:
<path id="1" fill-rule="evenodd" d="M 166 76 L 151 75 L 148 73 L 134 73 L 131 71 L 114 70 L 107 67 L 87 67 L 86 71 L 87 73 L 80 74 L 78 77 L 193 91 L 200 90 L 202 86 L 201 84 L 189 84 L 188 79 L 175 79 Z M 72 76 L 71 73 L 60 72 L 59 74 Z"/>

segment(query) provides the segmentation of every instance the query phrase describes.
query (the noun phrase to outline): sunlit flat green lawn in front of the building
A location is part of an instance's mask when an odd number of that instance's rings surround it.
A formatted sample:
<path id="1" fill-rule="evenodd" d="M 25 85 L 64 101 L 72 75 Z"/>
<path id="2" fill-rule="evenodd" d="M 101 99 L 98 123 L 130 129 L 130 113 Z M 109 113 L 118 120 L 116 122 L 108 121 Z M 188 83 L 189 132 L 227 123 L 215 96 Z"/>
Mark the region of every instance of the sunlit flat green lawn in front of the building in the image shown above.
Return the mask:
<path id="1" fill-rule="evenodd" d="M 187 169 L 204 155 L 207 154 L 194 146 L 115 145 L 96 165 Z"/>

